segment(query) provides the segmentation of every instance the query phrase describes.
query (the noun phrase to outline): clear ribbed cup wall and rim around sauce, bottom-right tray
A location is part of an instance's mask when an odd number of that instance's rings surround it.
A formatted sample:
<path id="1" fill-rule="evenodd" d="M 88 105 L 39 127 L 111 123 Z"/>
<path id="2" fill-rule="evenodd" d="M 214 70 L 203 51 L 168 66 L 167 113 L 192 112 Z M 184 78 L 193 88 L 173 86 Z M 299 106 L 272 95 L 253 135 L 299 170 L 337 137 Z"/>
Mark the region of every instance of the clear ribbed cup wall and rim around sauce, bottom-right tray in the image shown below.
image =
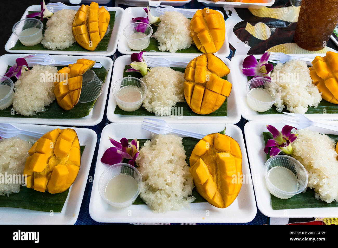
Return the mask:
<path id="1" fill-rule="evenodd" d="M 304 166 L 298 162 L 297 159 L 287 155 L 276 155 L 267 160 L 265 163 L 265 182 L 269 192 L 275 197 L 281 199 L 288 199 L 292 196 L 299 194 L 305 190 L 308 185 L 308 173 Z M 269 173 L 273 168 L 281 167 L 286 171 L 294 174 L 297 180 L 297 189 L 295 191 L 284 191 L 277 188 L 269 179 Z"/>

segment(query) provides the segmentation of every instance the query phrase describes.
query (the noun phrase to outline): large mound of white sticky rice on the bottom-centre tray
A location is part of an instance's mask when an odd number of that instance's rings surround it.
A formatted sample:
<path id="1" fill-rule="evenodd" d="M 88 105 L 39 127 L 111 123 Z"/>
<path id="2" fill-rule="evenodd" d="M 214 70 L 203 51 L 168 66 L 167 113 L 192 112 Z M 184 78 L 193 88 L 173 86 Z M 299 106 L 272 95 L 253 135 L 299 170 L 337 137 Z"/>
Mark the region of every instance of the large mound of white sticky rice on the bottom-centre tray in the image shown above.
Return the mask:
<path id="1" fill-rule="evenodd" d="M 140 197 L 155 212 L 165 213 L 189 207 L 193 177 L 186 162 L 182 138 L 159 134 L 148 140 L 136 159 L 142 175 Z"/>

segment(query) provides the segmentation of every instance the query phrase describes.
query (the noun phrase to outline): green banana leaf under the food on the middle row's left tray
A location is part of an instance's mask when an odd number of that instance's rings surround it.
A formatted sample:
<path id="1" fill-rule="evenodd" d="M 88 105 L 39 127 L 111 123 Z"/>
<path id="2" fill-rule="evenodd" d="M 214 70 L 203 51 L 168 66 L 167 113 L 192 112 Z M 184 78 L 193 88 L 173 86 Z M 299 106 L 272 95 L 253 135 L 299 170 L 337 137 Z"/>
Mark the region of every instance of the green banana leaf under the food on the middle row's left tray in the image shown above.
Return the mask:
<path id="1" fill-rule="evenodd" d="M 7 71 L 10 68 L 10 66 L 7 67 Z M 57 70 L 63 68 L 63 66 L 58 66 Z M 107 70 L 102 66 L 101 68 L 92 68 L 97 75 L 99 79 L 102 80 L 104 83 L 105 78 L 107 76 Z M 16 77 L 11 78 L 13 82 L 16 82 Z M 15 114 L 15 111 L 13 109 L 13 106 L 9 106 L 8 108 L 5 108 L 3 110 L 0 110 L 0 117 L 20 117 L 20 118 L 38 118 L 38 119 L 77 119 L 82 118 L 85 116 L 88 116 L 90 112 L 92 111 L 94 104 L 96 100 L 86 103 L 77 103 L 73 109 L 71 110 L 64 110 L 61 108 L 57 102 L 56 99 L 49 104 L 49 106 L 46 106 L 47 110 L 44 112 L 39 112 L 35 116 L 23 116 L 20 114 Z"/>

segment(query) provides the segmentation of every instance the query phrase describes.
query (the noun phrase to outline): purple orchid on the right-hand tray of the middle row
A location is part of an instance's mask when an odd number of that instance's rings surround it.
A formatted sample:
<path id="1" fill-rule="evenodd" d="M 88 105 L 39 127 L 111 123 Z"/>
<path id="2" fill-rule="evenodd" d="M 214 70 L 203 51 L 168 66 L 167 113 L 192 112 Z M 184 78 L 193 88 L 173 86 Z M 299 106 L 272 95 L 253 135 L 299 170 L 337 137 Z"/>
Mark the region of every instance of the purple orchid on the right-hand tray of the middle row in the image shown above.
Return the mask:
<path id="1" fill-rule="evenodd" d="M 259 62 L 254 55 L 247 56 L 243 61 L 243 74 L 245 76 L 264 77 L 271 79 L 269 73 L 273 70 L 273 65 L 268 63 L 270 52 L 265 52 Z"/>

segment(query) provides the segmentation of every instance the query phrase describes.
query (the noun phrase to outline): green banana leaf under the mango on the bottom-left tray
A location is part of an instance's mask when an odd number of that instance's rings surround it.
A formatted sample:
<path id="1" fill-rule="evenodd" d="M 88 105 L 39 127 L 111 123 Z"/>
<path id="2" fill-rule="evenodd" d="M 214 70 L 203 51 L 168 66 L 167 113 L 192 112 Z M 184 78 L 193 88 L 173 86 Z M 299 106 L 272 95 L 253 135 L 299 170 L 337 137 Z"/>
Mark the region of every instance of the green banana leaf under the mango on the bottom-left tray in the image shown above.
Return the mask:
<path id="1" fill-rule="evenodd" d="M 80 146 L 81 156 L 86 146 Z M 68 196 L 69 189 L 63 193 L 42 193 L 27 187 L 21 187 L 19 193 L 10 194 L 9 197 L 0 196 L 0 207 L 17 207 L 43 212 L 60 213 Z"/>

